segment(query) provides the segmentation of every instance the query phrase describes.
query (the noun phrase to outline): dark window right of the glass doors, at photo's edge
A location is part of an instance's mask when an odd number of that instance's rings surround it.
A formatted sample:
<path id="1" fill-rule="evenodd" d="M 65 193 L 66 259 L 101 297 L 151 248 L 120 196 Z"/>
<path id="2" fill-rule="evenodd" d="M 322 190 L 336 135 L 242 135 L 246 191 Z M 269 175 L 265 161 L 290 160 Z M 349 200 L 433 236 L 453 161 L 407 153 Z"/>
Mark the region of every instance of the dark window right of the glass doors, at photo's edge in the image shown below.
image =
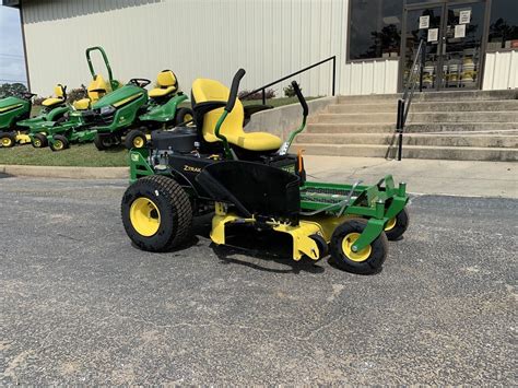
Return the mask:
<path id="1" fill-rule="evenodd" d="M 518 1 L 493 0 L 491 5 L 488 50 L 518 50 Z"/>

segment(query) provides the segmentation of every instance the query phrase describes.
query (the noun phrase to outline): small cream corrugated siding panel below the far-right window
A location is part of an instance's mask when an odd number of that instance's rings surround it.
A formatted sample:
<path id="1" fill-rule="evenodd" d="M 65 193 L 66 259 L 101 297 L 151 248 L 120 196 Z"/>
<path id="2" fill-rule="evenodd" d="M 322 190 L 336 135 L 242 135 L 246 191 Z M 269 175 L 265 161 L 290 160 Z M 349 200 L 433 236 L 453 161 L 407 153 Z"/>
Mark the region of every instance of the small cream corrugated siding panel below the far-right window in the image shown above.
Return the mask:
<path id="1" fill-rule="evenodd" d="M 518 51 L 488 52 L 485 56 L 484 91 L 518 87 Z"/>

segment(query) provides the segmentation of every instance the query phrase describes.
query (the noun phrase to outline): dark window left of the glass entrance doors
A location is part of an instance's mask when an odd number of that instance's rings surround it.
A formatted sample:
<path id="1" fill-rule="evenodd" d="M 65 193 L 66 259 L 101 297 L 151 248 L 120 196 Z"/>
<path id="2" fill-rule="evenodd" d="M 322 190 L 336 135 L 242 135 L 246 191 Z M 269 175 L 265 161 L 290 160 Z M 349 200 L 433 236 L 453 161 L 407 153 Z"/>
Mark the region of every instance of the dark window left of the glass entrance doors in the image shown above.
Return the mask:
<path id="1" fill-rule="evenodd" d="M 403 0 L 351 0 L 349 59 L 399 57 Z"/>

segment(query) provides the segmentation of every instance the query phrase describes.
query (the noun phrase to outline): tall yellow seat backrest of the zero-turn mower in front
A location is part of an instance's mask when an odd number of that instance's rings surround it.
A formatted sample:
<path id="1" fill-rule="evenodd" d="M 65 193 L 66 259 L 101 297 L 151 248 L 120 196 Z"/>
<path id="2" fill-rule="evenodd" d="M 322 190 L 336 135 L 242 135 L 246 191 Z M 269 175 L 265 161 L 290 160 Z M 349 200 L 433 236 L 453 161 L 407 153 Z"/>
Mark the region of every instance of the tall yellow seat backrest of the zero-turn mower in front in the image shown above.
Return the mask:
<path id="1" fill-rule="evenodd" d="M 209 80 L 209 79 L 197 79 L 192 83 L 192 98 L 193 109 L 196 114 L 196 104 L 207 102 L 227 102 L 231 95 L 228 87 L 223 85 L 221 82 Z M 214 129 L 217 120 L 223 114 L 223 108 L 210 110 L 203 115 L 201 120 L 202 134 L 205 138 L 208 134 L 214 134 Z M 245 109 L 239 98 L 236 98 L 234 109 L 226 116 L 225 121 L 220 129 L 222 134 L 236 134 L 245 133 L 243 130 L 243 120 L 245 118 Z M 198 125 L 198 122 L 197 122 Z M 207 140 L 207 138 L 205 138 Z"/>

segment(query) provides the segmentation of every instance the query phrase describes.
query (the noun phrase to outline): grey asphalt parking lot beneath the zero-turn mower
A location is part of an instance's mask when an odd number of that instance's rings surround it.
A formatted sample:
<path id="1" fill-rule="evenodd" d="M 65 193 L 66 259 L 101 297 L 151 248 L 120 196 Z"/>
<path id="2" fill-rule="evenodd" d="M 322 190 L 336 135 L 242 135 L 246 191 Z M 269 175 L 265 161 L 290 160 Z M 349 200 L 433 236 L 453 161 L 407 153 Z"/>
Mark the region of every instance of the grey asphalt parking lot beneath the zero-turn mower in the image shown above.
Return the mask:
<path id="1" fill-rule="evenodd" d="M 1 385 L 516 386 L 518 200 L 414 197 L 361 277 L 261 236 L 214 247 L 207 219 L 140 251 L 125 186 L 0 178 Z"/>

